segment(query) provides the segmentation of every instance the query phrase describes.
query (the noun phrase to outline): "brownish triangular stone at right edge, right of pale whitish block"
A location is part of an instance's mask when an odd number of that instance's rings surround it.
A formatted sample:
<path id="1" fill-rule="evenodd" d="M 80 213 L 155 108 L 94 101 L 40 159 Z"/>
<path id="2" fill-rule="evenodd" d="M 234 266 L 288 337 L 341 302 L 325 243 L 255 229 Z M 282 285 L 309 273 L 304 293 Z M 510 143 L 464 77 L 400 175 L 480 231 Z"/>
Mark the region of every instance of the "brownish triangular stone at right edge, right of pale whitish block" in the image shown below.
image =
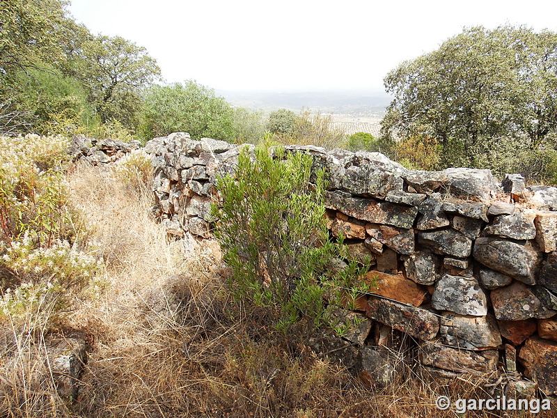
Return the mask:
<path id="1" fill-rule="evenodd" d="M 547 309 L 528 286 L 519 281 L 492 291 L 491 299 L 495 316 L 503 320 L 549 318 L 555 311 Z"/>

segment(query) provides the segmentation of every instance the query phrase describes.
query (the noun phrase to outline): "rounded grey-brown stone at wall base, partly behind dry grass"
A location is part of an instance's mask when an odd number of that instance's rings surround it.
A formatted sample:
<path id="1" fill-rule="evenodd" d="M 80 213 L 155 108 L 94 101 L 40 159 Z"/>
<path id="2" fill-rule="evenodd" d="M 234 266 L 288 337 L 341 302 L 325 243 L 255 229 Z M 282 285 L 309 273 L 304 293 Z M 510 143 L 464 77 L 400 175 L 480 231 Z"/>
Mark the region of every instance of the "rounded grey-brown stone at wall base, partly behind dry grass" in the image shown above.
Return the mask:
<path id="1" fill-rule="evenodd" d="M 391 385 L 395 374 L 393 366 L 389 363 L 389 356 L 370 346 L 360 348 L 356 371 L 366 386 L 377 388 Z"/>

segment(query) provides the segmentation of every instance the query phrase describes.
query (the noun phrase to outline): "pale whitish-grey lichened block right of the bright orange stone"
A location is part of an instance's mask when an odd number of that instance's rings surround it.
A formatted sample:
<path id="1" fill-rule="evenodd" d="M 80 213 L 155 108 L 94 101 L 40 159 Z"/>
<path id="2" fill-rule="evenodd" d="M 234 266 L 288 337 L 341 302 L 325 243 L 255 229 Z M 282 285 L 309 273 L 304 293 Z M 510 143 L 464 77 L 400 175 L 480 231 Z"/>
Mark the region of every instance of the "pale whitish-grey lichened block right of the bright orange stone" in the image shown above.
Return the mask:
<path id="1" fill-rule="evenodd" d="M 485 316 L 487 297 L 476 278 L 444 274 L 435 284 L 431 306 L 455 314 Z"/>

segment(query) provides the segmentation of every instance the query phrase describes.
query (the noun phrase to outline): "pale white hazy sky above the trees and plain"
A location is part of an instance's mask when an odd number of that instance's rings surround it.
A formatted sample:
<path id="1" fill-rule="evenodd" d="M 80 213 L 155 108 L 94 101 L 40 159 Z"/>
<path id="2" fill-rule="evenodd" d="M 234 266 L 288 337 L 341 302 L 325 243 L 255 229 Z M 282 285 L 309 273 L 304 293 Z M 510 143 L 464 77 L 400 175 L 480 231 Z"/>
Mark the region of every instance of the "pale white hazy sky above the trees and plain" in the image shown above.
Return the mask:
<path id="1" fill-rule="evenodd" d="M 72 0 L 70 12 L 146 47 L 166 82 L 228 91 L 382 89 L 464 26 L 557 31 L 555 0 Z"/>

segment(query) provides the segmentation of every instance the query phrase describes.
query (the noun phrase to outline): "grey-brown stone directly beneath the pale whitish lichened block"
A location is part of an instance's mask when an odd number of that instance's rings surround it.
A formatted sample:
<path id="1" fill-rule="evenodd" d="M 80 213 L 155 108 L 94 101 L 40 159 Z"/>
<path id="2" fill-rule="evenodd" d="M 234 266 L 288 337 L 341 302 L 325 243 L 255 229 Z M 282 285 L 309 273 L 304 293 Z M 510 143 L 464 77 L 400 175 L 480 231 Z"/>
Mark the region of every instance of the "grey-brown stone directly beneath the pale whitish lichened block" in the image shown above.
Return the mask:
<path id="1" fill-rule="evenodd" d="M 492 314 L 463 316 L 444 312 L 439 328 L 441 342 L 469 350 L 494 350 L 501 346 L 501 334 Z"/>

